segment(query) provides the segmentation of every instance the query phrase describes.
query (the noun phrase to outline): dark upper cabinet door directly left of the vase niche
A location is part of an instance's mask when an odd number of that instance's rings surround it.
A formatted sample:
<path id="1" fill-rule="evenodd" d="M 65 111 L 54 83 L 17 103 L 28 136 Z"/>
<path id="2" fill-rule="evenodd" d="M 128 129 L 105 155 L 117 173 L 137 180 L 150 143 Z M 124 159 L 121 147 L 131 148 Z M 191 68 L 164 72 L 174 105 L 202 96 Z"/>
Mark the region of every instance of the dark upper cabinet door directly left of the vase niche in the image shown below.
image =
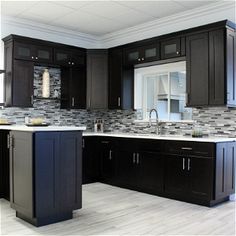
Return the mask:
<path id="1" fill-rule="evenodd" d="M 33 95 L 33 62 L 14 60 L 12 106 L 31 107 Z"/>

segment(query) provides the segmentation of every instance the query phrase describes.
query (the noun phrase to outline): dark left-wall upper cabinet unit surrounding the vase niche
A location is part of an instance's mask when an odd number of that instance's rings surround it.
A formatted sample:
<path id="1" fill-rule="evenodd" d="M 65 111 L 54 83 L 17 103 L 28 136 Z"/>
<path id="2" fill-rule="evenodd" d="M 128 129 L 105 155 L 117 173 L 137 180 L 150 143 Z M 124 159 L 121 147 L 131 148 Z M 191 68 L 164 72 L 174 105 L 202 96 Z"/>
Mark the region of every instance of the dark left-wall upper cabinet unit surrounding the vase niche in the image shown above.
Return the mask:
<path id="1" fill-rule="evenodd" d="M 17 35 L 5 43 L 5 105 L 33 106 L 34 66 L 59 67 L 63 108 L 86 106 L 86 50 Z M 66 68 L 66 69 L 65 69 Z"/>

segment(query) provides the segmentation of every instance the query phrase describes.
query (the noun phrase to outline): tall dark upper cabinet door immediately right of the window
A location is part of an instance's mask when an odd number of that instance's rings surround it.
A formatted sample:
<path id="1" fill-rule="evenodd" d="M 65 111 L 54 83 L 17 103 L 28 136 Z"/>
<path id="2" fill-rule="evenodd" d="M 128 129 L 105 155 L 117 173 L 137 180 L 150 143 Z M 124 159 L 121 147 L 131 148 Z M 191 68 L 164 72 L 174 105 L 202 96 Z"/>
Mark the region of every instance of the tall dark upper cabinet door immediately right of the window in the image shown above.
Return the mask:
<path id="1" fill-rule="evenodd" d="M 187 106 L 208 105 L 208 33 L 186 38 L 186 66 Z"/>

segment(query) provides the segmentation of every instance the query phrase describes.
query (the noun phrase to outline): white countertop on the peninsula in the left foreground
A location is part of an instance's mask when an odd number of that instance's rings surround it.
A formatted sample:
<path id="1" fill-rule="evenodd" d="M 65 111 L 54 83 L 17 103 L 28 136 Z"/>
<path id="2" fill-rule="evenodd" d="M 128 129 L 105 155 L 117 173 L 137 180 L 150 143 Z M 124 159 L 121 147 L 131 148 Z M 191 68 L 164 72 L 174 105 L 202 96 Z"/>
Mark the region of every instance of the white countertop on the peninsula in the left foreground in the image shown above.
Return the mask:
<path id="1" fill-rule="evenodd" d="M 0 125 L 0 130 L 15 130 L 15 131 L 83 131 L 85 126 L 26 126 L 26 125 Z"/>

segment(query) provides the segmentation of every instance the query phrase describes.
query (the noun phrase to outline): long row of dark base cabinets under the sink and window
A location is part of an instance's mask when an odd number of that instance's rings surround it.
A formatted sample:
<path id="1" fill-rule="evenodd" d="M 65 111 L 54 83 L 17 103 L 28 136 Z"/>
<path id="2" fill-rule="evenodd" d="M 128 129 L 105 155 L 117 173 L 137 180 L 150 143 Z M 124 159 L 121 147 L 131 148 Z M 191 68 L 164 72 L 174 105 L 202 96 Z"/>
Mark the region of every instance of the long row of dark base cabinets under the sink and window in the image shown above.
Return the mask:
<path id="1" fill-rule="evenodd" d="M 100 176 L 94 182 L 205 206 L 227 201 L 235 192 L 236 142 L 96 140 Z"/>

